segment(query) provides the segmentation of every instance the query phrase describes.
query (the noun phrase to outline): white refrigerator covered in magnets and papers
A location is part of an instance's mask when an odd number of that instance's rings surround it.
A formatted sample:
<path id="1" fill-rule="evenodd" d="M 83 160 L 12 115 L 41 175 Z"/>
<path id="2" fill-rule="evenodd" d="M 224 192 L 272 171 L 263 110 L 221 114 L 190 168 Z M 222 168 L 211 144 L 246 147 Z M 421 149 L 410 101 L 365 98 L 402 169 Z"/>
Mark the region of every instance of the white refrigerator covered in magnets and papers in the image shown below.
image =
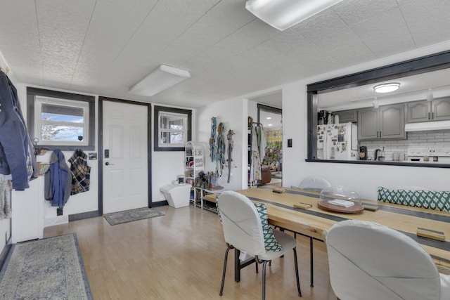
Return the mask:
<path id="1" fill-rule="evenodd" d="M 358 129 L 352 122 L 317 126 L 316 159 L 358 159 Z"/>

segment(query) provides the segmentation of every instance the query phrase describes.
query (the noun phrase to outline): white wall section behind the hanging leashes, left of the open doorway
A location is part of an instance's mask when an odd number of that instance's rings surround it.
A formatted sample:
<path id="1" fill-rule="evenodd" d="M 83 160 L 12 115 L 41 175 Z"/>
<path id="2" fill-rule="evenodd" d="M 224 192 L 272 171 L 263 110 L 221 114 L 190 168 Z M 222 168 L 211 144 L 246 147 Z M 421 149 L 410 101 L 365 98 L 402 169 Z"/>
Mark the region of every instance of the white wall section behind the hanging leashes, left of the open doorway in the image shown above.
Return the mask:
<path id="1" fill-rule="evenodd" d="M 224 123 L 225 134 L 229 129 L 234 131 L 234 147 L 231 163 L 231 180 L 227 183 L 228 168 L 225 166 L 218 184 L 226 190 L 240 190 L 247 186 L 247 119 L 248 119 L 248 100 L 243 98 L 234 98 L 231 100 L 213 103 L 206 107 L 201 107 L 196 111 L 197 120 L 195 122 L 198 128 L 198 142 L 205 143 L 205 171 L 215 171 L 216 165 L 211 162 L 209 141 L 211 136 L 211 118 L 217 118 L 217 125 Z M 226 141 L 226 136 L 225 136 Z M 228 150 L 228 141 L 226 149 Z"/>

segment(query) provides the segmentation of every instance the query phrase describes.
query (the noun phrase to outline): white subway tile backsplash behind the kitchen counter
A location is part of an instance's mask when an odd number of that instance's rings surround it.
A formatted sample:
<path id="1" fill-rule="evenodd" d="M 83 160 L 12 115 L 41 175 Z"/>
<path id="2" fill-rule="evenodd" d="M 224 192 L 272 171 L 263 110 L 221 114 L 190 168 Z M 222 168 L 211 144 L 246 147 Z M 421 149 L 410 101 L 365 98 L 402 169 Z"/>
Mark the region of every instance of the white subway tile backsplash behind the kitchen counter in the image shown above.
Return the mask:
<path id="1" fill-rule="evenodd" d="M 376 149 L 385 148 L 386 160 L 392 160 L 393 152 L 406 152 L 408 148 L 427 148 L 432 146 L 450 148 L 450 131 L 408 132 L 406 140 L 361 141 L 360 146 L 367 147 L 368 157 L 374 159 Z"/>

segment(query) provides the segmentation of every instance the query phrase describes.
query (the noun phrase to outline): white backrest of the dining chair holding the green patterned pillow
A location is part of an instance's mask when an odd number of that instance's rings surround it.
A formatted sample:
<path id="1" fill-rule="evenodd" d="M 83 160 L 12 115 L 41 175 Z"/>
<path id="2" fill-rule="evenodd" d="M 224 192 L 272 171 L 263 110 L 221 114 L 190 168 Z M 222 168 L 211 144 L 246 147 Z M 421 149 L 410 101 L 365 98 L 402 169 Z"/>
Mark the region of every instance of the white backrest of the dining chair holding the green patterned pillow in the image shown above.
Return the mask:
<path id="1" fill-rule="evenodd" d="M 219 196 L 217 206 L 227 243 L 252 256 L 266 252 L 261 219 L 248 197 L 231 190 L 225 191 Z"/>

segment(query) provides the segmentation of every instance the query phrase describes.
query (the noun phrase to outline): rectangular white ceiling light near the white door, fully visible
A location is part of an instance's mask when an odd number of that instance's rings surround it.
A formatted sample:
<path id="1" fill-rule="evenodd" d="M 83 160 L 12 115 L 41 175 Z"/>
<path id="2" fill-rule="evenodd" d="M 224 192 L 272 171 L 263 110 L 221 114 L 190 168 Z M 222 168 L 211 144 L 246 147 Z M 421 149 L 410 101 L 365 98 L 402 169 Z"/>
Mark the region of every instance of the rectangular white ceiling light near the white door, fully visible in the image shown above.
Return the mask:
<path id="1" fill-rule="evenodd" d="M 141 96 L 154 96 L 189 77 L 191 77 L 191 73 L 186 70 L 160 65 L 157 70 L 132 86 L 129 92 Z"/>

